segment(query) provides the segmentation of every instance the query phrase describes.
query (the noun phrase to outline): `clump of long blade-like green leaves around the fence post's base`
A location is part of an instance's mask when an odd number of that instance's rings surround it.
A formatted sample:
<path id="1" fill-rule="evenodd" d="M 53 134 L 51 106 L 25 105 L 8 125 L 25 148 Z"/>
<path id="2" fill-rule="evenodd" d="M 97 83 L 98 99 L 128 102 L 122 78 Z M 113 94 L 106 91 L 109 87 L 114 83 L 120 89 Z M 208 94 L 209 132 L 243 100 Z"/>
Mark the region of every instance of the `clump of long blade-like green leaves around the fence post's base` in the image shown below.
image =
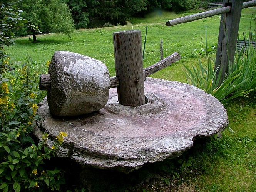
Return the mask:
<path id="1" fill-rule="evenodd" d="M 184 65 L 188 72 L 187 83 L 213 95 L 223 104 L 231 99 L 255 93 L 256 54 L 253 46 L 249 46 L 244 52 L 236 52 L 234 64 L 229 66 L 226 78 L 221 83 L 221 72 L 216 75 L 218 68 L 214 70 L 213 63 L 212 59 L 208 58 L 207 65 L 203 65 L 199 58 L 197 65 L 192 66 L 192 70 Z"/>

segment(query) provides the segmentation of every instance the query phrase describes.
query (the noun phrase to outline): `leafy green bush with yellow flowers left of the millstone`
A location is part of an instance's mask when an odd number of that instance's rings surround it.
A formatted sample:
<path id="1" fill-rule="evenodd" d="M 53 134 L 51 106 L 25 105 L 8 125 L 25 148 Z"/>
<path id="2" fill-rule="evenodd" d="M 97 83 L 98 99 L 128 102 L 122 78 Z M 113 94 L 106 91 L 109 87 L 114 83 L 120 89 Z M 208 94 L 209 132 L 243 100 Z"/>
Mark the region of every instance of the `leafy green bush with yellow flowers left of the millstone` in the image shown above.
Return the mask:
<path id="1" fill-rule="evenodd" d="M 59 190 L 64 182 L 62 171 L 48 170 L 45 161 L 54 157 L 67 134 L 60 132 L 50 149 L 45 144 L 47 133 L 38 144 L 31 136 L 35 120 L 40 118 L 37 104 L 44 97 L 38 89 L 39 74 L 45 69 L 42 66 L 37 62 L 11 66 L 8 58 L 0 65 L 1 191 Z"/>

